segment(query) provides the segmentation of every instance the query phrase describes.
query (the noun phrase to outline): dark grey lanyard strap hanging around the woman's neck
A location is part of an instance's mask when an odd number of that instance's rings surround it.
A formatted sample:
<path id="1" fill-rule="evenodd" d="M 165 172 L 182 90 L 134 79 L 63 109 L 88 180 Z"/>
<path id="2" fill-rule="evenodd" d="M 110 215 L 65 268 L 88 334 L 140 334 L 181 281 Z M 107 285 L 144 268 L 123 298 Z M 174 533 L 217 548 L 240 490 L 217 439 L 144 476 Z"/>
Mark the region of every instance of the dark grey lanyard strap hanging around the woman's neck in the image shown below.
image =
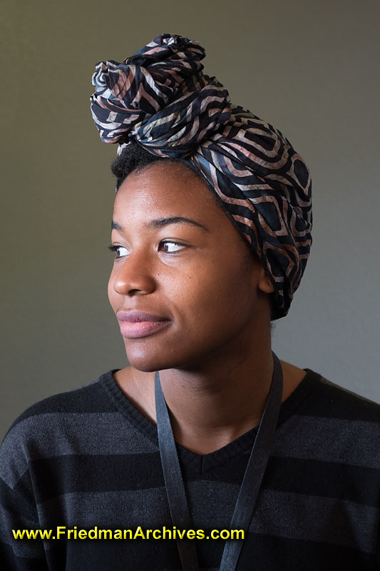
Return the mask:
<path id="1" fill-rule="evenodd" d="M 250 527 L 257 495 L 267 467 L 274 432 L 277 427 L 279 408 L 282 399 L 282 368 L 277 355 L 272 351 L 273 376 L 267 403 L 260 421 L 255 442 L 240 486 L 230 529 L 244 530 Z M 173 430 L 170 425 L 168 408 L 160 383 L 159 372 L 155 373 L 155 410 L 157 415 L 158 444 L 163 465 L 166 493 L 173 525 L 179 529 L 191 529 L 192 521 L 186 498 L 183 477 L 180 471 Z M 242 550 L 242 540 L 227 540 L 220 562 L 220 571 L 235 571 Z M 198 571 L 195 540 L 177 540 L 178 552 L 183 571 Z"/>

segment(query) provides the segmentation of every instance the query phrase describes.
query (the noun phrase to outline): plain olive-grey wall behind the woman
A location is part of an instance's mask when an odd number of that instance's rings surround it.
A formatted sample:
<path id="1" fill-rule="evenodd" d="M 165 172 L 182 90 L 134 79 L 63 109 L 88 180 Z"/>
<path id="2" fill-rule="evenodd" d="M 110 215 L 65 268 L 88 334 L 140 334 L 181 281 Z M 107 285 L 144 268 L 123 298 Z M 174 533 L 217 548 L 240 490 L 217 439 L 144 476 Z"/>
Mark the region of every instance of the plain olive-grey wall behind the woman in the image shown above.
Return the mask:
<path id="1" fill-rule="evenodd" d="M 116 146 L 91 75 L 164 32 L 199 41 L 205 73 L 312 173 L 311 256 L 274 351 L 379 401 L 379 2 L 6 0 L 0 18 L 1 435 L 128 364 L 106 294 Z"/>

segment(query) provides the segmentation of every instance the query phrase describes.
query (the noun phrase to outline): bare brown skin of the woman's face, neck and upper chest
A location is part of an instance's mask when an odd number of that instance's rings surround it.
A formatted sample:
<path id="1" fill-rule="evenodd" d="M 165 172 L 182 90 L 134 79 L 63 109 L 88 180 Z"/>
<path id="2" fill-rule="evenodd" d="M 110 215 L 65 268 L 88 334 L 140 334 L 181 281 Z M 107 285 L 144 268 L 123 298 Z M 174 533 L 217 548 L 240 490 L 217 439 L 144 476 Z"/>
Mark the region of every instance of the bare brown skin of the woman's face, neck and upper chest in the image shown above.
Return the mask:
<path id="1" fill-rule="evenodd" d="M 170 216 L 207 230 L 145 226 Z M 113 310 L 170 320 L 143 338 L 123 338 L 130 366 L 114 373 L 115 382 L 155 423 L 160 370 L 175 440 L 211 453 L 260 423 L 273 373 L 273 285 L 205 183 L 182 164 L 153 163 L 130 173 L 116 194 L 113 221 L 123 228 L 111 236 L 120 246 L 108 283 Z M 283 402 L 306 372 L 280 363 Z"/>

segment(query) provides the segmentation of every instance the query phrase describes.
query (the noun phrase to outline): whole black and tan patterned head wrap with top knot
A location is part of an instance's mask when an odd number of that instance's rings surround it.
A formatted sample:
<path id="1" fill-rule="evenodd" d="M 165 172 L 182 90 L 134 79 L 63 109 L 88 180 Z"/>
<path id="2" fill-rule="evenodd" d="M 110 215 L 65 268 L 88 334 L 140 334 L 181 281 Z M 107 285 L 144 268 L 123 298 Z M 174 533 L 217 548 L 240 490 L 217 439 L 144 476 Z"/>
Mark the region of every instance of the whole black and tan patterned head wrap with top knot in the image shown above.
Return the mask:
<path id="1" fill-rule="evenodd" d="M 196 41 L 162 34 L 135 55 L 101 61 L 91 112 L 101 140 L 132 140 L 181 158 L 206 178 L 274 285 L 272 319 L 287 315 L 312 245 L 309 170 L 278 129 L 230 102 L 202 73 Z"/>

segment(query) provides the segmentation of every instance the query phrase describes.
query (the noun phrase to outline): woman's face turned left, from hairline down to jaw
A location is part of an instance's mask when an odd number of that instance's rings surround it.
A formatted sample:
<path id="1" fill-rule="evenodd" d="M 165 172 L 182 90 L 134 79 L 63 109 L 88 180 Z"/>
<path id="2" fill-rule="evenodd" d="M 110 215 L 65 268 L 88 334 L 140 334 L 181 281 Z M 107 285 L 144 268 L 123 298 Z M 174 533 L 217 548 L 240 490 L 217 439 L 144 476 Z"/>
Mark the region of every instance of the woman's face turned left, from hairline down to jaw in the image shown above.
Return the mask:
<path id="1" fill-rule="evenodd" d="M 178 217 L 194 223 L 157 222 Z M 116 194 L 113 223 L 119 257 L 108 298 L 116 316 L 140 310 L 166 322 L 153 329 L 119 322 L 130 365 L 196 369 L 252 343 L 258 312 L 267 312 L 269 327 L 269 296 L 260 290 L 269 279 L 188 168 L 155 163 L 130 173 Z"/>

